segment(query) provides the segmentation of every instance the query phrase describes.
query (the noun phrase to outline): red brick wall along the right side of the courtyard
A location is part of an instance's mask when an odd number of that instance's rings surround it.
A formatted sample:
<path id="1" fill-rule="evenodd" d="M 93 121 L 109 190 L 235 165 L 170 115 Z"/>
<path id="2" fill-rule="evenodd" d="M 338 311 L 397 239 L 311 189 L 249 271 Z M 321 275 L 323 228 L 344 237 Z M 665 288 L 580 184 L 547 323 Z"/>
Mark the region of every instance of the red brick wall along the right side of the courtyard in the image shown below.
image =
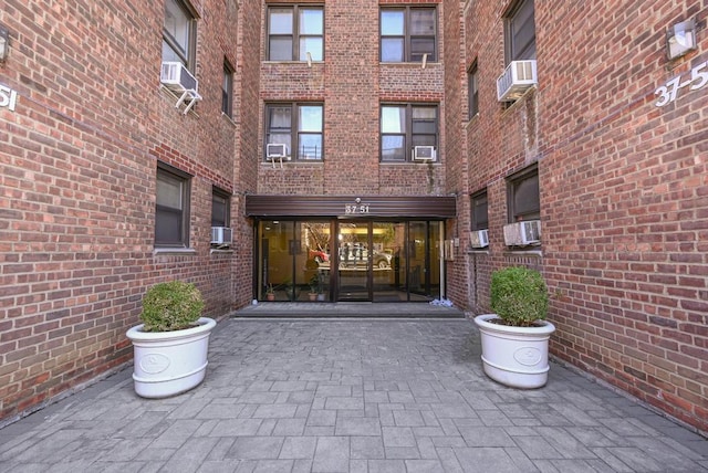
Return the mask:
<path id="1" fill-rule="evenodd" d="M 504 108 L 494 82 L 506 7 L 470 2 L 465 14 L 466 62 L 478 60 L 481 82 L 469 190 L 489 189 L 490 212 L 489 255 L 475 259 L 487 273 L 540 267 L 556 357 L 708 431 L 708 87 L 655 105 L 657 87 L 708 60 L 699 31 L 698 51 L 669 61 L 666 31 L 688 18 L 705 25 L 707 13 L 690 1 L 537 2 L 539 87 Z M 543 244 L 514 261 L 502 244 L 503 178 L 532 161 Z M 483 272 L 469 270 L 482 309 Z"/>

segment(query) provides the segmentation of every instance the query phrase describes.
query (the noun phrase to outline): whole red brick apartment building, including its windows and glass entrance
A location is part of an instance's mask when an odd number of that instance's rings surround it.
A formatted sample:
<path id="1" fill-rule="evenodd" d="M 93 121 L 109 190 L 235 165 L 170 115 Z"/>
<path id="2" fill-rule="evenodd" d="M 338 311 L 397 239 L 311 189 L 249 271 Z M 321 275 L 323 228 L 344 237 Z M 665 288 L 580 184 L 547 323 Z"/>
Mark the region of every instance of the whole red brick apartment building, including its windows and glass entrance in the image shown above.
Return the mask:
<path id="1" fill-rule="evenodd" d="M 708 431 L 708 11 L 585 3 L 0 0 L 0 419 L 158 281 L 481 313 L 523 264 L 558 359 Z"/>

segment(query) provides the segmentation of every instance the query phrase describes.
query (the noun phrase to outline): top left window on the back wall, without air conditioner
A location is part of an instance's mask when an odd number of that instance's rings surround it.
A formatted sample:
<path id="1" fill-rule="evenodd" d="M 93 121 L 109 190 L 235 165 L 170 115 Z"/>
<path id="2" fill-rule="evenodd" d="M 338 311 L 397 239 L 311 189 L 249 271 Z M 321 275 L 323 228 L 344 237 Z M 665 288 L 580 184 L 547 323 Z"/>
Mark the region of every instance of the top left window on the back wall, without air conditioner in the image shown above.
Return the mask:
<path id="1" fill-rule="evenodd" d="M 271 7 L 268 9 L 268 61 L 322 61 L 324 9 Z"/>

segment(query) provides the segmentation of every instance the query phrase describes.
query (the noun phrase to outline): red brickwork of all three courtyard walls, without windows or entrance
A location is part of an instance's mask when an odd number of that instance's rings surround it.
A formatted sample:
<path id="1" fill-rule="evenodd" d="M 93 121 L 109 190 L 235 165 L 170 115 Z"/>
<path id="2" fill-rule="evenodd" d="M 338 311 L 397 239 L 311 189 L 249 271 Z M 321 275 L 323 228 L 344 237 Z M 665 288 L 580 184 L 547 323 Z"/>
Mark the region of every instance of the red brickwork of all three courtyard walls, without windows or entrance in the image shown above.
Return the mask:
<path id="1" fill-rule="evenodd" d="M 204 99 L 186 115 L 159 84 L 163 2 L 0 3 L 0 85 L 18 94 L 14 111 L 0 107 L 0 422 L 129 362 L 125 332 L 158 281 L 195 282 L 217 318 L 248 304 L 247 193 L 454 195 L 449 298 L 482 313 L 493 270 L 541 270 L 558 359 L 708 431 L 708 86 L 655 105 L 657 87 L 708 60 L 695 2 L 537 2 L 539 85 L 502 105 L 508 0 L 306 1 L 325 6 L 325 57 L 311 65 L 266 61 L 268 2 L 191 0 Z M 436 4 L 438 61 L 379 62 L 382 4 Z M 666 30 L 688 18 L 699 48 L 669 61 Z M 323 161 L 264 161 L 272 102 L 324 104 Z M 439 105 L 438 164 L 379 164 L 388 102 Z M 158 160 L 192 176 L 188 253 L 153 244 Z M 511 252 L 507 178 L 532 164 L 542 245 Z M 230 252 L 209 245 L 212 187 L 232 193 Z M 469 251 L 469 197 L 483 189 L 491 243 Z"/>

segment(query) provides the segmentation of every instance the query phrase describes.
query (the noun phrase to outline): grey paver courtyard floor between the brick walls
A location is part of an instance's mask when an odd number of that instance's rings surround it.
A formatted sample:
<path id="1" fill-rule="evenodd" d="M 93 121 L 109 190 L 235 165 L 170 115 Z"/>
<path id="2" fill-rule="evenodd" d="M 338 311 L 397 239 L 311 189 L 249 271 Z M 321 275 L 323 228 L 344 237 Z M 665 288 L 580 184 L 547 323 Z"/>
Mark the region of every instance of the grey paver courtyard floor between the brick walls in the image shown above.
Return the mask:
<path id="1" fill-rule="evenodd" d="M 553 364 L 482 372 L 469 319 L 227 319 L 205 382 L 131 370 L 0 430 L 2 472 L 701 472 L 708 441 Z"/>

